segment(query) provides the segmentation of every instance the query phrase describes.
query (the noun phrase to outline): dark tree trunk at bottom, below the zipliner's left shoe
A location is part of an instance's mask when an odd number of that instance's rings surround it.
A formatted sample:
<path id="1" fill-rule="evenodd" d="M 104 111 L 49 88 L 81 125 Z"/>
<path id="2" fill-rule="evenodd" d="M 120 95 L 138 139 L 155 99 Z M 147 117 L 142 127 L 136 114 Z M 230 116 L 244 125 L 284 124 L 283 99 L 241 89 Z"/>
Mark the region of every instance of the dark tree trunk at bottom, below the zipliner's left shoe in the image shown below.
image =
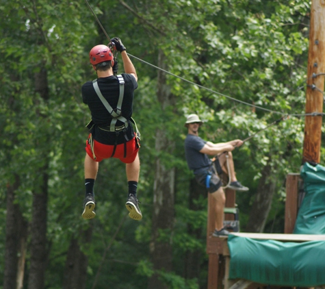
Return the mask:
<path id="1" fill-rule="evenodd" d="M 88 257 L 81 251 L 78 240 L 89 243 L 92 238 L 92 227 L 83 231 L 78 239 L 71 238 L 70 247 L 66 256 L 63 289 L 86 289 Z"/>

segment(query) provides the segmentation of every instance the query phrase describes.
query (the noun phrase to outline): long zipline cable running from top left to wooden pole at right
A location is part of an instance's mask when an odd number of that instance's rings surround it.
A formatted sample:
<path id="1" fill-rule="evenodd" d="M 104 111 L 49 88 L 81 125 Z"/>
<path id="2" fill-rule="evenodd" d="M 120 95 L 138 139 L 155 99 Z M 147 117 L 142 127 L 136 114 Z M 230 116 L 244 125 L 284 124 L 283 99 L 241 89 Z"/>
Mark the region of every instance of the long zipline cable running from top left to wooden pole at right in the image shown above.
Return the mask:
<path id="1" fill-rule="evenodd" d="M 92 14 L 93 14 L 94 17 L 96 18 L 97 23 L 99 23 L 99 26 L 100 26 L 101 29 L 103 30 L 105 36 L 107 37 L 107 39 L 109 40 L 109 42 L 112 42 L 112 41 L 111 41 L 111 38 L 109 38 L 107 32 L 105 31 L 103 25 L 101 25 L 101 21 L 99 21 L 99 18 L 97 18 L 96 14 L 94 13 L 94 10 L 92 10 L 92 8 L 91 8 L 90 4 L 88 3 L 88 1 L 87 1 L 87 0 L 85 0 L 85 1 L 86 1 L 87 5 L 88 5 L 88 8 L 90 9 L 90 11 L 92 12 Z M 158 66 L 155 66 L 155 65 L 153 65 L 153 64 L 151 64 L 151 63 L 149 63 L 149 62 L 146 62 L 146 61 L 144 61 L 144 60 L 142 60 L 142 59 L 140 59 L 140 58 L 137 58 L 137 57 L 135 57 L 134 55 L 131 55 L 131 54 L 129 54 L 129 53 L 127 53 L 127 55 L 129 55 L 131 58 L 135 58 L 136 60 L 139 60 L 140 62 L 143 62 L 144 64 L 148 64 L 149 66 L 153 66 L 154 68 L 156 68 L 156 69 L 158 69 L 158 70 L 160 70 L 160 71 L 164 71 L 164 73 L 167 73 L 167 74 L 169 74 L 169 75 L 172 75 L 172 76 L 174 76 L 174 77 L 177 77 L 177 78 L 179 78 L 179 79 L 181 79 L 181 80 L 183 80 L 183 81 L 185 81 L 185 82 L 187 82 L 187 83 L 189 83 L 189 84 L 192 84 L 192 85 L 194 85 L 194 86 L 198 86 L 199 88 L 203 88 L 203 89 L 205 89 L 205 90 L 207 90 L 207 91 L 209 91 L 209 92 L 212 92 L 213 95 L 220 95 L 220 96 L 222 96 L 222 97 L 226 97 L 227 99 L 231 99 L 231 100 L 233 100 L 233 101 L 237 101 L 238 103 L 242 103 L 242 104 L 244 104 L 244 105 L 251 106 L 252 108 L 258 108 L 259 110 L 264 110 L 264 111 L 266 111 L 266 112 L 270 112 L 270 113 L 272 113 L 272 114 L 281 114 L 282 116 L 323 116 L 323 115 L 324 115 L 323 112 L 311 112 L 311 113 L 308 113 L 308 114 L 285 114 L 284 112 L 276 112 L 275 110 L 269 110 L 268 108 L 263 108 L 263 107 L 261 107 L 261 106 L 259 106 L 259 105 L 254 105 L 254 104 L 252 104 L 252 103 L 247 103 L 247 102 L 245 102 L 245 101 L 241 101 L 241 100 L 239 100 L 239 99 L 235 99 L 235 98 L 233 98 L 233 97 L 229 97 L 229 95 L 224 95 L 224 94 L 222 94 L 222 93 L 220 93 L 220 92 L 218 92 L 218 91 L 211 90 L 210 88 L 206 88 L 205 86 L 201 86 L 200 84 L 196 84 L 196 83 L 194 83 L 193 81 L 187 80 L 187 79 L 185 79 L 185 78 L 183 78 L 183 77 L 180 77 L 179 75 L 175 75 L 174 73 L 170 73 L 169 71 L 166 71 L 166 70 L 164 70 L 163 68 L 160 68 L 160 67 L 158 67 Z"/>

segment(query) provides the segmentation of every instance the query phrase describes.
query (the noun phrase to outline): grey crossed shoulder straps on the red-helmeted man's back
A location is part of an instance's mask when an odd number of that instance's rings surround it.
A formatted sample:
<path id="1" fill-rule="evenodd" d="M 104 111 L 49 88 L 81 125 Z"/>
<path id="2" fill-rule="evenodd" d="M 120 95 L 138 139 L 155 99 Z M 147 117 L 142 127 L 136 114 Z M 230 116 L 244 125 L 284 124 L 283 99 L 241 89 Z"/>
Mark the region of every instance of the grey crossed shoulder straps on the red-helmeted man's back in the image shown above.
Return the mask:
<path id="1" fill-rule="evenodd" d="M 122 123 L 127 123 L 127 118 L 125 118 L 121 115 L 121 113 L 122 113 L 121 108 L 122 108 L 122 102 L 123 102 L 123 97 L 124 97 L 125 81 L 124 81 L 122 75 L 117 75 L 117 77 L 118 77 L 118 82 L 120 83 L 120 95 L 118 97 L 118 105 L 116 108 L 116 112 L 113 110 L 112 106 L 109 105 L 109 103 L 107 102 L 105 97 L 103 97 L 101 90 L 99 89 L 97 79 L 94 79 L 94 81 L 92 81 L 92 86 L 94 86 L 94 90 L 95 90 L 96 94 L 99 96 L 99 99 L 101 99 L 101 102 L 105 106 L 106 110 L 109 112 L 109 114 L 111 114 L 111 116 L 113 118 L 111 121 L 111 124 L 109 125 L 109 128 L 111 131 L 114 131 L 114 129 L 115 129 L 116 121 L 122 121 Z"/>

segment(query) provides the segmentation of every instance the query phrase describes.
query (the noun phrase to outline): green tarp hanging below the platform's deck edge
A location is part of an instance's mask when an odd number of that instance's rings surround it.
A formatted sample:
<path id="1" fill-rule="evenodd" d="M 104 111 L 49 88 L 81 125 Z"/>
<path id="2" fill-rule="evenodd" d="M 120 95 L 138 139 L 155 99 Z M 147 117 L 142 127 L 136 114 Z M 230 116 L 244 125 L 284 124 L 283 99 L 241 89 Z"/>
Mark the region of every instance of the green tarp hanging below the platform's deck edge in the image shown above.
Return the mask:
<path id="1" fill-rule="evenodd" d="M 229 235 L 229 279 L 273 286 L 325 284 L 325 241 L 279 242 Z"/>

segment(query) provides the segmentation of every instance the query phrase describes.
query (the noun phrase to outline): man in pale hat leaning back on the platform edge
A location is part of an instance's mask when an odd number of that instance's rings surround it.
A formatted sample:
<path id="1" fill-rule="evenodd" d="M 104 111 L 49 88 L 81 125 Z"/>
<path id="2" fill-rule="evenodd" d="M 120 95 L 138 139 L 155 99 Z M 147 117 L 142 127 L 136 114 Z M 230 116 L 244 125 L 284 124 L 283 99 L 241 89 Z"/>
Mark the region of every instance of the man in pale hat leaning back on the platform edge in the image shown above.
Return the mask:
<path id="1" fill-rule="evenodd" d="M 231 140 L 229 142 L 213 143 L 205 141 L 198 136 L 198 129 L 203 124 L 197 114 L 187 116 L 185 127 L 187 136 L 185 138 L 185 158 L 187 166 L 194 172 L 196 181 L 201 186 L 205 186 L 208 192 L 216 199 L 216 230 L 213 236 L 227 236 L 229 231 L 224 228 L 224 204 L 226 197 L 222 188 L 219 175 L 222 173 L 222 166 L 228 162 L 227 168 L 231 183 L 227 188 L 237 191 L 247 191 L 248 188 L 237 181 L 233 155 L 231 151 L 235 147 L 243 144 L 242 140 Z M 209 155 L 217 156 L 214 161 L 210 160 Z M 228 160 L 226 158 L 228 155 Z"/>

